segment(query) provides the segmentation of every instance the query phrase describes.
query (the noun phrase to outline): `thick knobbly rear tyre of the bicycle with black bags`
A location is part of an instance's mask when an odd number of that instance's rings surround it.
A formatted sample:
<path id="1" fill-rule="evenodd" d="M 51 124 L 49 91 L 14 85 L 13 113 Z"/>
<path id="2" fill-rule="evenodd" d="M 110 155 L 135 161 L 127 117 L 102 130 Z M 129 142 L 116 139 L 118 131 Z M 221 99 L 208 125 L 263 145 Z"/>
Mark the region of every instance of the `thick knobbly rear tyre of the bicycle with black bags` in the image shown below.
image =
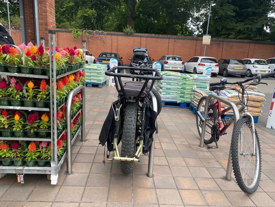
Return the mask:
<path id="1" fill-rule="evenodd" d="M 122 132 L 122 157 L 134 157 L 136 143 L 138 103 L 127 102 L 124 109 L 124 124 Z M 121 171 L 124 174 L 133 172 L 134 163 L 129 161 L 121 161 Z"/>

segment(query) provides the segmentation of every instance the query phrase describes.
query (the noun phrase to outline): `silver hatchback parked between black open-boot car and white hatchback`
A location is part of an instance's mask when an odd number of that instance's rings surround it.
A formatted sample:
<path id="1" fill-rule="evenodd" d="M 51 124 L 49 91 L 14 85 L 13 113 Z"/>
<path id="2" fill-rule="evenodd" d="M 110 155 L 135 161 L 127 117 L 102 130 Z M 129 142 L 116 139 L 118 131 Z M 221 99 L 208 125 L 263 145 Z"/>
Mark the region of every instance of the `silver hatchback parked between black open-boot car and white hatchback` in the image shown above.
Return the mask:
<path id="1" fill-rule="evenodd" d="M 181 56 L 163 55 L 158 61 L 161 63 L 161 71 L 183 71 L 184 62 Z"/>

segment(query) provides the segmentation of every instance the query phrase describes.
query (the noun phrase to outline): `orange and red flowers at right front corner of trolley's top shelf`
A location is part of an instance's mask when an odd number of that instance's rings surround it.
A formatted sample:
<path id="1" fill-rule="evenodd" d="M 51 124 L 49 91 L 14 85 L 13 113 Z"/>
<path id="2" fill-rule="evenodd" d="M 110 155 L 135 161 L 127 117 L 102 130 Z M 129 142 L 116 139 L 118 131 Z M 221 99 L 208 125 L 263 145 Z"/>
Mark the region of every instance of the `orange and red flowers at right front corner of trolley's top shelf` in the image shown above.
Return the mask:
<path id="1" fill-rule="evenodd" d="M 31 45 L 25 50 L 24 64 L 31 67 L 47 67 L 49 66 L 49 56 L 44 51 L 43 45 L 39 47 Z"/>

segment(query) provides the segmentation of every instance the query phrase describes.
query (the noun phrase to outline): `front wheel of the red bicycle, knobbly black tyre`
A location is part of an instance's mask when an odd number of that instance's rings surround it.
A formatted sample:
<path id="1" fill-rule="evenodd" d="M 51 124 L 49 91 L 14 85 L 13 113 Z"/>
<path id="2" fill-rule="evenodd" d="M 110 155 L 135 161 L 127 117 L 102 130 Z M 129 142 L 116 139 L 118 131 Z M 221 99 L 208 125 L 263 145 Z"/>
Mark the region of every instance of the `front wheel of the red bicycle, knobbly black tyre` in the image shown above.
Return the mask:
<path id="1" fill-rule="evenodd" d="M 255 138 L 254 154 L 251 121 L 249 118 L 239 119 L 232 133 L 232 167 L 239 187 L 248 194 L 256 191 L 261 178 L 261 147 L 256 128 Z"/>

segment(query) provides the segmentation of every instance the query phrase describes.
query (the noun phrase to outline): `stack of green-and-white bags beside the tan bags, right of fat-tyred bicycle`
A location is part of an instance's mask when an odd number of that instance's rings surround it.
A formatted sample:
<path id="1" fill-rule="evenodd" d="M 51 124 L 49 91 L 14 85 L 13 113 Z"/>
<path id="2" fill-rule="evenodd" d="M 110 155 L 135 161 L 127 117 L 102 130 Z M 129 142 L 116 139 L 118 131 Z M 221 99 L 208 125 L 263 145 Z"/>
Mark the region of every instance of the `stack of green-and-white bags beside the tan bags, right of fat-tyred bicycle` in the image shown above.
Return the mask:
<path id="1" fill-rule="evenodd" d="M 163 102 L 191 103 L 193 89 L 206 89 L 209 77 L 199 74 L 184 74 L 178 72 L 160 72 L 162 80 L 156 83 Z"/>

